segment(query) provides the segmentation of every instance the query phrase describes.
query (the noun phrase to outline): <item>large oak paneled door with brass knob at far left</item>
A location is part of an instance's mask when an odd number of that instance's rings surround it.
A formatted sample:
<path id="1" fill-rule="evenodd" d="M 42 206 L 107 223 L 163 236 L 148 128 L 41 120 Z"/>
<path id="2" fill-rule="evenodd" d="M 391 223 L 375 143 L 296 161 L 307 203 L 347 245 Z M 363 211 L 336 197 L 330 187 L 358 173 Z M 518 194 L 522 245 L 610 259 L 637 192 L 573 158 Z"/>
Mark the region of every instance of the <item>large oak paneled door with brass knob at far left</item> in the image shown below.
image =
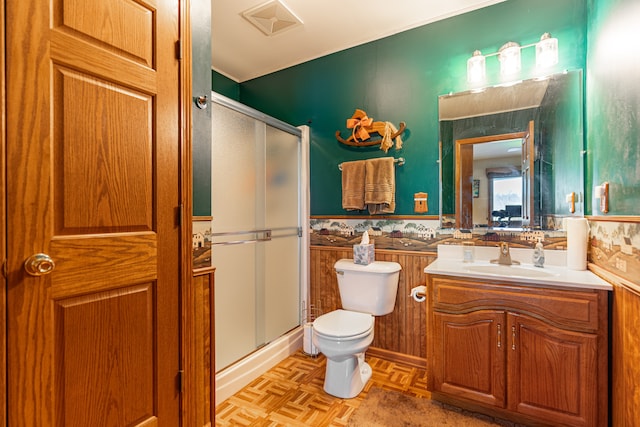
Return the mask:
<path id="1" fill-rule="evenodd" d="M 177 426 L 179 2 L 5 5 L 8 425 Z"/>

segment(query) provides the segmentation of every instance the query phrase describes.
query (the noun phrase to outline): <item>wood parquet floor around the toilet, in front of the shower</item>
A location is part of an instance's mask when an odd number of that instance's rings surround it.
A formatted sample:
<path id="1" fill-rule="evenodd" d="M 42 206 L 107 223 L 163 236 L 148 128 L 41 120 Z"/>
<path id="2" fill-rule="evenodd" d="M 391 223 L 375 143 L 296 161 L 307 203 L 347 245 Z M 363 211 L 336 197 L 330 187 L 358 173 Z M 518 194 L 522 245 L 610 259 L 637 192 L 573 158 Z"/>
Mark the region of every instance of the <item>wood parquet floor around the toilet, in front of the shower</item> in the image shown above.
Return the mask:
<path id="1" fill-rule="evenodd" d="M 371 387 L 429 397 L 426 371 L 366 358 L 371 380 L 359 396 L 340 399 L 322 389 L 326 359 L 302 351 L 288 357 L 216 407 L 216 426 L 346 426 Z"/>

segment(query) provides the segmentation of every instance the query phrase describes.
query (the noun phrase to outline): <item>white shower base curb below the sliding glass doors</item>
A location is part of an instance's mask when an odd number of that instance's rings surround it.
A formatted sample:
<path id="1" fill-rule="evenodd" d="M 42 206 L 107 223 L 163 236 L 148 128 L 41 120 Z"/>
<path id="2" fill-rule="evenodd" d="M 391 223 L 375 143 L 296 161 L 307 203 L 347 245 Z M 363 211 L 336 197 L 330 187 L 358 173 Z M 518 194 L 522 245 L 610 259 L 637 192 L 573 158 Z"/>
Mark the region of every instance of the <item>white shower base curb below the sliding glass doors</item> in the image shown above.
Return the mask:
<path id="1" fill-rule="evenodd" d="M 216 374 L 216 406 L 302 348 L 298 327 Z"/>

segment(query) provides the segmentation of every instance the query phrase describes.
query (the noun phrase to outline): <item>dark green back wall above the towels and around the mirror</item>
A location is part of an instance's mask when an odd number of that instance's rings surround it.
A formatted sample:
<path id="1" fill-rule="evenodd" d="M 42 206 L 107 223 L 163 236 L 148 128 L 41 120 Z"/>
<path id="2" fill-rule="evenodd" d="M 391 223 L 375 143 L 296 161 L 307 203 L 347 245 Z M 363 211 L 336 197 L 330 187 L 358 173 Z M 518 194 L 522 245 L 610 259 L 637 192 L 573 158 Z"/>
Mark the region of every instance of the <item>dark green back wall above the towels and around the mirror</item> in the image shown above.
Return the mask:
<path id="1" fill-rule="evenodd" d="M 586 64 L 583 0 L 508 0 L 382 40 L 242 82 L 239 100 L 285 122 L 311 128 L 311 214 L 348 214 L 341 206 L 338 164 L 382 157 L 378 148 L 348 147 L 346 119 L 356 108 L 375 120 L 407 123 L 405 157 L 397 169 L 396 214 L 413 214 L 413 194 L 429 193 L 438 214 L 438 96 L 467 90 L 466 61 L 475 49 L 496 52 L 507 41 L 534 43 L 544 32 L 559 39 L 554 72 Z M 521 78 L 534 77 L 535 49 L 524 49 Z M 489 85 L 499 83 L 498 61 L 487 58 Z"/>

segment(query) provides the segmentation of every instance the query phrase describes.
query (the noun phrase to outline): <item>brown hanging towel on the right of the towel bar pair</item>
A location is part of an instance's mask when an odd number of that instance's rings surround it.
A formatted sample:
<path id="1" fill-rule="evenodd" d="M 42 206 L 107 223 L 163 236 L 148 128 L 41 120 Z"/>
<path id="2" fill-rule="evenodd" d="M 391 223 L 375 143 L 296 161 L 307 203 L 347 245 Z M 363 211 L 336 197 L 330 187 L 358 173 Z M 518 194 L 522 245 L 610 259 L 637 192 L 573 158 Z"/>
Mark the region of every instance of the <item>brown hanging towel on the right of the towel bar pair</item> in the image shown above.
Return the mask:
<path id="1" fill-rule="evenodd" d="M 393 157 L 365 161 L 364 203 L 370 214 L 396 210 L 396 176 Z"/>

